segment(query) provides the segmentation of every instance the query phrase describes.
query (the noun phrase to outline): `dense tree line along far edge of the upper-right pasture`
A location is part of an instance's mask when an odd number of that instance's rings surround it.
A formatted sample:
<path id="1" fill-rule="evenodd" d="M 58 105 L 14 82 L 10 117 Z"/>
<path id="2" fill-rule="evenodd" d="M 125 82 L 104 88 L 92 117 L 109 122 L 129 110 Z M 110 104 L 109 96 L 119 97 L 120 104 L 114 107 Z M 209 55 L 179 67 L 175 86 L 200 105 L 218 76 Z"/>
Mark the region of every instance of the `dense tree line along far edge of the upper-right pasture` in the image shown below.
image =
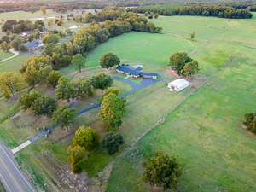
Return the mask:
<path id="1" fill-rule="evenodd" d="M 249 19 L 253 14 L 248 9 L 235 9 L 213 4 L 197 4 L 175 8 L 172 5 L 151 5 L 127 9 L 137 13 L 158 13 L 159 15 L 201 15 L 229 19 Z"/>

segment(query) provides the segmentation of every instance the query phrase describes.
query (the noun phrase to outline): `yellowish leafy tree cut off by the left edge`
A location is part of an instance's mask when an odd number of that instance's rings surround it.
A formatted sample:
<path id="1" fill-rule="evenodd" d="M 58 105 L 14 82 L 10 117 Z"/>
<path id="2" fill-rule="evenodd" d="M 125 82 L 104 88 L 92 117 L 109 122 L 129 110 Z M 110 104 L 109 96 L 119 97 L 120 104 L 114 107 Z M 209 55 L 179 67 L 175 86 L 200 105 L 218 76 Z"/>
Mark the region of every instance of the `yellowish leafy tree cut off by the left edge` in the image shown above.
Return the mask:
<path id="1" fill-rule="evenodd" d="M 0 90 L 3 91 L 3 96 L 9 98 L 13 95 L 17 99 L 16 92 L 22 88 L 23 79 L 19 73 L 3 72 L 0 73 Z"/>

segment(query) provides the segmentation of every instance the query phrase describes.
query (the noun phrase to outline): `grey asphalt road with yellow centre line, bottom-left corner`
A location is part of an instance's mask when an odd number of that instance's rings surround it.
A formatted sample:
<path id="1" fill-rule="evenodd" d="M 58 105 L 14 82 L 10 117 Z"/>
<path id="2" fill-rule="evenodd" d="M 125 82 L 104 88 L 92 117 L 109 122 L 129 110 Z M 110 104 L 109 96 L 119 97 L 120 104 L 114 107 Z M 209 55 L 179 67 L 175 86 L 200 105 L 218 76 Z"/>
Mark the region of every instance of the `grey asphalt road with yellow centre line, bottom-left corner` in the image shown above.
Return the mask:
<path id="1" fill-rule="evenodd" d="M 11 155 L 12 153 L 0 144 L 0 179 L 3 186 L 9 192 L 35 192 L 15 164 L 14 156 Z"/>

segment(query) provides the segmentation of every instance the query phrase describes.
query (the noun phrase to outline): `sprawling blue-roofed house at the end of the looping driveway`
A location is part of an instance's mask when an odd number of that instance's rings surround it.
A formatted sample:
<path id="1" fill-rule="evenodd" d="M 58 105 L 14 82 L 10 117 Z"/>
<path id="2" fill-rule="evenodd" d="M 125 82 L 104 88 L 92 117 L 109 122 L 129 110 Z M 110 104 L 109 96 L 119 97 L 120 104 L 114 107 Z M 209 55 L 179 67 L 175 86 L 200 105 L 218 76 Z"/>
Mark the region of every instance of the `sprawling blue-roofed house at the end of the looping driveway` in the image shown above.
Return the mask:
<path id="1" fill-rule="evenodd" d="M 137 65 L 130 67 L 128 64 L 124 66 L 116 67 L 117 73 L 125 74 L 132 78 L 148 78 L 148 79 L 157 79 L 158 73 L 143 73 L 143 66 Z"/>

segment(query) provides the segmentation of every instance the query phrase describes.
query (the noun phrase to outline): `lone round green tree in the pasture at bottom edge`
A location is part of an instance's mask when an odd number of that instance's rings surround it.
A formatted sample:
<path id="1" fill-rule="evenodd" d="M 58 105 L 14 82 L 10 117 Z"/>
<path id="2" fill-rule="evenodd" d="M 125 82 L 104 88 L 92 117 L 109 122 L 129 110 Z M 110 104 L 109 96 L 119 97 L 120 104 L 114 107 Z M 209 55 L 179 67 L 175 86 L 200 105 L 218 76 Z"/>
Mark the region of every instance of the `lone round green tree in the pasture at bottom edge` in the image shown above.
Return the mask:
<path id="1" fill-rule="evenodd" d="M 164 190 L 177 188 L 182 169 L 174 156 L 169 157 L 168 154 L 157 150 L 154 157 L 149 158 L 148 162 L 143 161 L 142 166 L 145 169 L 140 177 L 143 182 L 149 183 L 151 186 L 163 187 Z"/>

